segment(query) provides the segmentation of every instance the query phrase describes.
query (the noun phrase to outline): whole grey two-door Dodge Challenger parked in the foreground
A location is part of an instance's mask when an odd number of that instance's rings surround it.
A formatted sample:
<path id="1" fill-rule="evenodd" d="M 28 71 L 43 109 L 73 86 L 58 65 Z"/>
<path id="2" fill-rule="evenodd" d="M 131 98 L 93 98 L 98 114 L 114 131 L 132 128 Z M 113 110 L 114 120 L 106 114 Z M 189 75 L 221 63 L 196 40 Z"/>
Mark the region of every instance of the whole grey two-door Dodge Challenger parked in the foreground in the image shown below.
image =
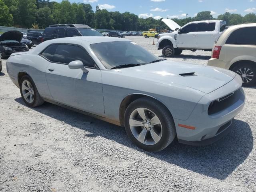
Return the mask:
<path id="1" fill-rule="evenodd" d="M 148 151 L 210 144 L 232 128 L 245 102 L 238 74 L 165 60 L 120 38 L 70 37 L 14 53 L 7 72 L 25 104 L 44 102 L 124 126 Z"/>

